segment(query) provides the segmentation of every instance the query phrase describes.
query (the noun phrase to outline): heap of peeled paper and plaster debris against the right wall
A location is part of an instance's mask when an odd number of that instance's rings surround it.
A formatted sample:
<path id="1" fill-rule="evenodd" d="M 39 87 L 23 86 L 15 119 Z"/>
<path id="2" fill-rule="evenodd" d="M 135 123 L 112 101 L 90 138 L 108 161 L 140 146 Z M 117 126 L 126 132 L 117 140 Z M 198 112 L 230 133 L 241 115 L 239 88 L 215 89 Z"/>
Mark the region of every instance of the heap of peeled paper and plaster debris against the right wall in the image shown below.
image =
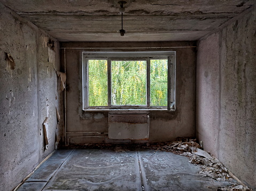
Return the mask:
<path id="1" fill-rule="evenodd" d="M 251 190 L 247 186 L 239 185 L 228 172 L 228 169 L 213 155 L 201 150 L 196 139 L 177 138 L 174 142 L 147 144 L 147 147 L 158 151 L 167 151 L 190 157 L 190 163 L 199 165 L 202 170 L 199 174 L 218 181 L 229 181 L 230 186 L 218 190 Z"/>

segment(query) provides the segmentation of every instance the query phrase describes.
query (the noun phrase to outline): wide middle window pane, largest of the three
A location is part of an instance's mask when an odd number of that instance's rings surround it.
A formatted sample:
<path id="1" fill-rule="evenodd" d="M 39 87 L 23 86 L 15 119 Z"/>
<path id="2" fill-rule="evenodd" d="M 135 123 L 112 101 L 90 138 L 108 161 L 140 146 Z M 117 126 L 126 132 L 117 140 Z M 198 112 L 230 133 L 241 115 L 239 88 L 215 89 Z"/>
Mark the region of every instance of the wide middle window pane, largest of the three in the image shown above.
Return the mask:
<path id="1" fill-rule="evenodd" d="M 112 105 L 146 105 L 146 61 L 111 61 Z"/>

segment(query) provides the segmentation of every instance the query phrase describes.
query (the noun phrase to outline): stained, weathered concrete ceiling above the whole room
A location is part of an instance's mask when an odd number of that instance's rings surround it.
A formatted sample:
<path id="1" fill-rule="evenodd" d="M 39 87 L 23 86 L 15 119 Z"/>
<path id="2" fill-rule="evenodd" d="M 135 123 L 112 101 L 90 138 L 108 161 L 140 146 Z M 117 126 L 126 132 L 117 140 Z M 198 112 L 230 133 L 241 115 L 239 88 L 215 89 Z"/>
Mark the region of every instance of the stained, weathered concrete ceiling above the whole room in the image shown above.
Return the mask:
<path id="1" fill-rule="evenodd" d="M 0 0 L 60 41 L 198 40 L 255 0 Z"/>

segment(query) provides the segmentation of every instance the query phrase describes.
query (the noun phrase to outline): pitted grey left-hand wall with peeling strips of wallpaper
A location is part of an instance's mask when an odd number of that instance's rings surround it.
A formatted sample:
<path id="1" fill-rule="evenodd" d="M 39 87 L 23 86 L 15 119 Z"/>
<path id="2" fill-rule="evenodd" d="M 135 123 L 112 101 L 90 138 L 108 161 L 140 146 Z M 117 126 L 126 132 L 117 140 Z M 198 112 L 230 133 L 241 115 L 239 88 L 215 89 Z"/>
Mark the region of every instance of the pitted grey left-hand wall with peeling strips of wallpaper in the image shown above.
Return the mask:
<path id="1" fill-rule="evenodd" d="M 0 4 L 0 190 L 14 189 L 55 150 L 56 106 L 61 113 L 62 94 L 55 73 L 59 44 L 55 40 L 55 63 L 48 62 L 49 38 Z M 14 67 L 6 68 L 7 54 Z M 49 148 L 44 151 L 42 124 L 47 115 Z"/>

